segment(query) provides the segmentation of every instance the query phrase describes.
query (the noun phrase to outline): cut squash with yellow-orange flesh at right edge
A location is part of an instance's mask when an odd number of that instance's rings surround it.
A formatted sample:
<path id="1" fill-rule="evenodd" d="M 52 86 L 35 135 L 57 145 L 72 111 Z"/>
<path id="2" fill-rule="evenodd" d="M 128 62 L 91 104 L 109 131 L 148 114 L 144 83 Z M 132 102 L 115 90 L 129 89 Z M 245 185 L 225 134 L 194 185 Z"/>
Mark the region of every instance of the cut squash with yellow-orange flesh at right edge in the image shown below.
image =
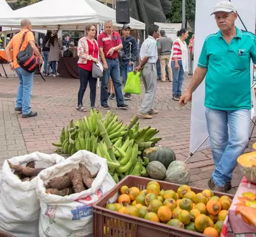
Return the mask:
<path id="1" fill-rule="evenodd" d="M 254 144 L 253 144 L 254 146 Z M 243 175 L 251 182 L 256 182 L 256 151 L 244 153 L 237 158 L 237 163 L 240 166 Z"/>

